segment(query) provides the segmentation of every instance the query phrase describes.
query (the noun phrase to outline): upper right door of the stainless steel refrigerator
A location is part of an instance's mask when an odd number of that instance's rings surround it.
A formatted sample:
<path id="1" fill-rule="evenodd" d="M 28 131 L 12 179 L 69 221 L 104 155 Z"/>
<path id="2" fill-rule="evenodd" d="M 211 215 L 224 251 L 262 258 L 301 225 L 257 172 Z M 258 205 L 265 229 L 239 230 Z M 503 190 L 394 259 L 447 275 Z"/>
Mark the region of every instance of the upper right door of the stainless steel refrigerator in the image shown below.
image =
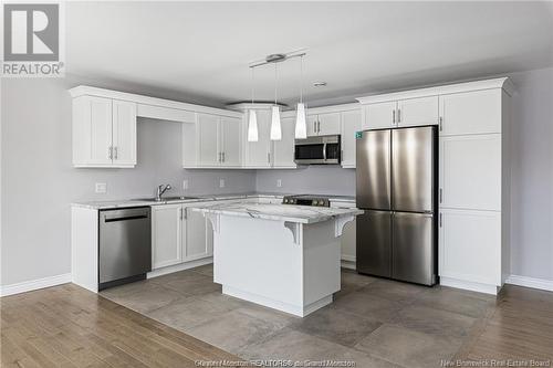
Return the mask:
<path id="1" fill-rule="evenodd" d="M 435 127 L 392 130 L 392 209 L 432 212 Z"/>

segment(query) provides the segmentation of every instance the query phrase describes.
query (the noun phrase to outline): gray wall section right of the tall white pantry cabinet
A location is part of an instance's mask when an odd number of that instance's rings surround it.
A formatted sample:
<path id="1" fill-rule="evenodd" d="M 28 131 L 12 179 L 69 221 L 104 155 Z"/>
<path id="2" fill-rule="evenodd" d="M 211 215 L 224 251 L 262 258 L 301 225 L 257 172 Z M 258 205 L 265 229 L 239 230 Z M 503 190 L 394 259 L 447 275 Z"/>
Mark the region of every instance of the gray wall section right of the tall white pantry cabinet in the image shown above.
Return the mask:
<path id="1" fill-rule="evenodd" d="M 511 273 L 553 281 L 553 69 L 512 78 Z"/>

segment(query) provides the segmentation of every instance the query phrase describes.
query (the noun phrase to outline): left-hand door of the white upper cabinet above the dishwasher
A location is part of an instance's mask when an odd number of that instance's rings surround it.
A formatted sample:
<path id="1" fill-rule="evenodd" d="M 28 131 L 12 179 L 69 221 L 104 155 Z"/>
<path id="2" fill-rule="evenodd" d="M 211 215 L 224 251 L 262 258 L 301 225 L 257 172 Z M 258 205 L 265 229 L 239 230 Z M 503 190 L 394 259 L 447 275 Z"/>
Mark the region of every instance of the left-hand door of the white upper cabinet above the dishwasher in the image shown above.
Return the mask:
<path id="1" fill-rule="evenodd" d="M 112 165 L 112 99 L 87 97 L 90 115 L 90 156 L 87 164 Z"/>

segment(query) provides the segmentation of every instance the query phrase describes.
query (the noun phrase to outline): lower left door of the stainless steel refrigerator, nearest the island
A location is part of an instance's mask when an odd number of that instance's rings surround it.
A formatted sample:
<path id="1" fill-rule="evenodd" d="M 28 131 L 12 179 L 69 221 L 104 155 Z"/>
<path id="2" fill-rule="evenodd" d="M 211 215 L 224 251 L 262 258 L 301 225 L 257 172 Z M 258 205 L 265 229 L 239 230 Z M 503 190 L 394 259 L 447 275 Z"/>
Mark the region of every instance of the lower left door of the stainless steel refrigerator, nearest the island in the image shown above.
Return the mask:
<path id="1" fill-rule="evenodd" d="M 356 219 L 357 272 L 392 276 L 392 212 L 365 211 Z"/>

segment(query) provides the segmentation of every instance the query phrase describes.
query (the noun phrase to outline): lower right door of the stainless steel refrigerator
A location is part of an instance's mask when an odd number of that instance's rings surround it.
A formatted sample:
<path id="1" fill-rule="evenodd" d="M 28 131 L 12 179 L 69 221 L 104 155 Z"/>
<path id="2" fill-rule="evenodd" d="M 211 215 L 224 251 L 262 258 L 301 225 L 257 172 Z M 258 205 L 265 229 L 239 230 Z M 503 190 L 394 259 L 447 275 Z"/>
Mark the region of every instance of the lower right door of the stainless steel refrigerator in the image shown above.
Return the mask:
<path id="1" fill-rule="evenodd" d="M 418 284 L 436 283 L 434 214 L 394 212 L 392 277 Z"/>

